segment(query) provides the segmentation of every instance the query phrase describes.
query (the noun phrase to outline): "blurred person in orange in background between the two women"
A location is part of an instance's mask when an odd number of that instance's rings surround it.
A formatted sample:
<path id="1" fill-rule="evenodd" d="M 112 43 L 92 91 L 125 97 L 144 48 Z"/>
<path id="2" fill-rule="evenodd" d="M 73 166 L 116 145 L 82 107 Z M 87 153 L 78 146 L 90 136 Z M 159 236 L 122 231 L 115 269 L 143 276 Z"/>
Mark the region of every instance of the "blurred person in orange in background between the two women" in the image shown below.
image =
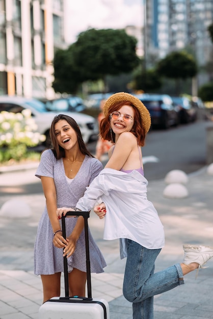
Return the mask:
<path id="1" fill-rule="evenodd" d="M 104 115 L 103 115 L 103 105 L 105 103 L 105 99 L 102 99 L 100 101 L 100 110 L 101 112 L 98 114 L 98 124 L 99 124 L 99 127 L 100 127 L 100 122 L 102 120 L 102 118 L 104 118 Z M 97 141 L 97 144 L 96 144 L 96 153 L 95 153 L 95 157 L 97 159 L 99 159 L 99 161 L 101 160 L 101 157 L 103 154 L 105 153 L 108 153 L 109 149 L 111 148 L 112 146 L 112 143 L 111 141 L 108 141 L 108 140 L 104 140 L 100 134 L 99 134 L 99 137 L 98 137 L 98 141 Z"/>

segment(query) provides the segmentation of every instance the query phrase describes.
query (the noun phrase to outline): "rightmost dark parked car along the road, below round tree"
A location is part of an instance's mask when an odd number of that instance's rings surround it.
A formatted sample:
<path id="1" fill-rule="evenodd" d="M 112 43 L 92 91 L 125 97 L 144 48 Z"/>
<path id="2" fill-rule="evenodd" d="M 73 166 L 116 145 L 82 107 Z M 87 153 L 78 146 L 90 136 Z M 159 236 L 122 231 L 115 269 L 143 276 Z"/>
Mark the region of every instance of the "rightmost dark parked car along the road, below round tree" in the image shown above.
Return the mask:
<path id="1" fill-rule="evenodd" d="M 179 114 L 180 123 L 190 123 L 197 119 L 197 110 L 192 101 L 185 96 L 171 96 Z"/>

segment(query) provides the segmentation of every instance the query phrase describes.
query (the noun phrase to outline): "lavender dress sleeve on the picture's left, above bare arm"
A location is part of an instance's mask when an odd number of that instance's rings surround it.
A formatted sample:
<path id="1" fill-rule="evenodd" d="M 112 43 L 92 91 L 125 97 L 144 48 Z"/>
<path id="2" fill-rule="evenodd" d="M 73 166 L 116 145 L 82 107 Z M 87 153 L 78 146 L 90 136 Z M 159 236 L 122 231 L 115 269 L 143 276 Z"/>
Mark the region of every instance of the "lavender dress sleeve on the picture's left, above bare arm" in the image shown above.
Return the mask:
<path id="1" fill-rule="evenodd" d="M 41 176 L 54 178 L 54 165 L 56 163 L 56 157 L 54 153 L 47 149 L 41 154 L 39 166 L 36 170 L 35 176 L 41 178 Z"/>

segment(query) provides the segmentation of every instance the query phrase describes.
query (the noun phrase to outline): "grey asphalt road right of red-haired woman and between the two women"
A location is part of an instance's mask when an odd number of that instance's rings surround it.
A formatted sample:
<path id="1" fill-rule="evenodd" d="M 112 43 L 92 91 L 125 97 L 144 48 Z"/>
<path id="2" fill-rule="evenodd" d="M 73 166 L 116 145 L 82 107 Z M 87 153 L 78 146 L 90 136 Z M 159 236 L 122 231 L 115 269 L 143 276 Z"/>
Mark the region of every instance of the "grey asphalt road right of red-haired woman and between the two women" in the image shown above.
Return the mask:
<path id="1" fill-rule="evenodd" d="M 150 130 L 142 147 L 145 177 L 150 181 L 162 179 L 174 169 L 189 174 L 202 168 L 205 165 L 207 123 L 197 121 L 168 130 Z M 95 152 L 94 145 L 89 148 Z M 103 165 L 107 163 L 107 156 L 104 157 Z"/>

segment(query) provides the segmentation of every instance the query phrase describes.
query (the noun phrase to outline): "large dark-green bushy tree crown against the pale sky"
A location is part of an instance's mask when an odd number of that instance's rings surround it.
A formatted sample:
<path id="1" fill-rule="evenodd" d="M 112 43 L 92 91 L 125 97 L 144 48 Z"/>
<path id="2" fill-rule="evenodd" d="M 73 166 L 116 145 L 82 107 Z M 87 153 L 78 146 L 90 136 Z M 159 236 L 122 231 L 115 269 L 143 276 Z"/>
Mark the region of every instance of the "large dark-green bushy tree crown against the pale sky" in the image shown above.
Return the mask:
<path id="1" fill-rule="evenodd" d="M 76 87 L 98 79 L 105 83 L 107 75 L 131 72 L 140 62 L 136 44 L 137 39 L 124 30 L 90 29 L 82 32 L 75 43 L 55 56 L 54 89 L 72 93 L 72 83 Z"/>

